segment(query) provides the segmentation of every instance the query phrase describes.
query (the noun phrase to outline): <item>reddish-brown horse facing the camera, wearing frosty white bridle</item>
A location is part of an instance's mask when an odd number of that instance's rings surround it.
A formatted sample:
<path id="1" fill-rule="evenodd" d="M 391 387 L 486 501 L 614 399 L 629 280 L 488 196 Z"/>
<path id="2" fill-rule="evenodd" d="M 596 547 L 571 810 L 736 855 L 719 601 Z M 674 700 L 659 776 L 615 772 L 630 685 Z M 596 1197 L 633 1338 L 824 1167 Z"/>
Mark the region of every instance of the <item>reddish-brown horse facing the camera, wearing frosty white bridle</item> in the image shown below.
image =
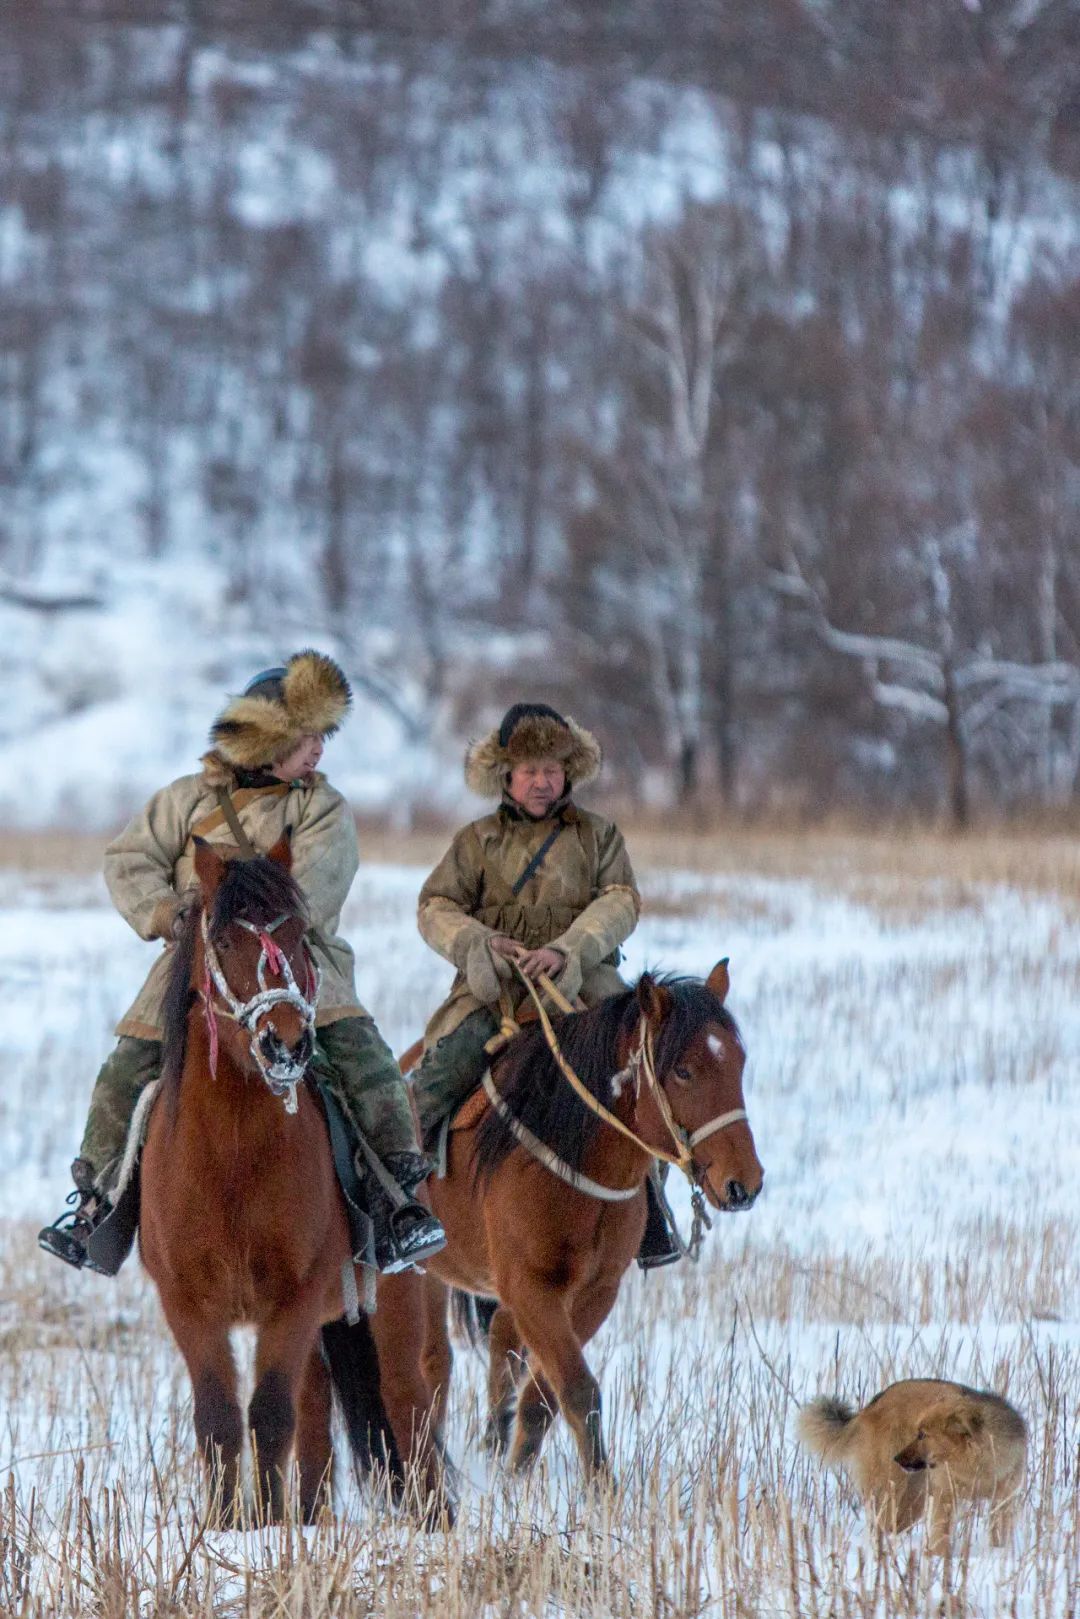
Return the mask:
<path id="1" fill-rule="evenodd" d="M 198 902 L 176 944 L 165 1009 L 162 1091 L 141 1162 L 139 1245 L 188 1363 L 210 1509 L 240 1509 L 244 1418 L 230 1329 L 256 1331 L 248 1405 L 256 1511 L 279 1519 L 295 1447 L 300 1511 L 330 1491 L 330 1389 L 361 1468 L 379 1459 L 402 1494 L 449 1506 L 431 1436 L 419 1328 L 421 1277 L 382 1277 L 369 1326 L 348 1326 L 350 1234 L 322 1107 L 304 1075 L 317 973 L 288 840 L 222 860 L 196 839 Z M 381 1342 L 398 1321 L 392 1350 Z M 325 1357 L 325 1358 L 324 1358 Z"/>

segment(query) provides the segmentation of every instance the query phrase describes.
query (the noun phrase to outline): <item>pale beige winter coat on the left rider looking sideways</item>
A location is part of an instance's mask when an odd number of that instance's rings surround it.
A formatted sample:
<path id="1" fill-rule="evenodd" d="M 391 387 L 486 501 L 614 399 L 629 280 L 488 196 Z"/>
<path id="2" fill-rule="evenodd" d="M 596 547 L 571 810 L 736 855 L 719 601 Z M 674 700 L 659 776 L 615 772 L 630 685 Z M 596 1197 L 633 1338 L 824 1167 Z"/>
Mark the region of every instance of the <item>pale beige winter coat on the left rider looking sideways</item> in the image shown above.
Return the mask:
<path id="1" fill-rule="evenodd" d="M 164 939 L 165 947 L 134 1004 L 117 1025 L 118 1035 L 162 1038 L 162 1001 L 172 968 L 172 924 L 185 889 L 196 882 L 194 835 L 233 845 L 217 801 L 217 788 L 232 792 L 240 824 L 266 853 L 291 827 L 293 877 L 311 910 L 308 941 L 322 973 L 317 1025 L 343 1017 L 366 1017 L 356 999 L 353 952 L 338 937 L 338 918 L 356 866 L 356 824 L 342 795 L 325 776 L 304 784 L 236 788 L 228 764 L 207 753 L 198 776 L 154 793 L 147 806 L 105 850 L 105 882 L 113 905 L 141 939 Z"/>

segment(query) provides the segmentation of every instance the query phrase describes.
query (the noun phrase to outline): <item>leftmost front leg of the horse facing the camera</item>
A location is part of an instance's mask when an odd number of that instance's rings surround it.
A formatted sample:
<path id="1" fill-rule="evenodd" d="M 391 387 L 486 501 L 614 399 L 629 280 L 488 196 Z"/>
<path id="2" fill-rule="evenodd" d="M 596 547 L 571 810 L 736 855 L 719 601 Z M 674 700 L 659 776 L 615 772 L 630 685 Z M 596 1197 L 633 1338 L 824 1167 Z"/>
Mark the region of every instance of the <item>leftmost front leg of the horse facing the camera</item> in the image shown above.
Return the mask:
<path id="1" fill-rule="evenodd" d="M 194 1397 L 194 1434 L 209 1483 L 207 1517 L 230 1525 L 240 1502 L 240 1451 L 243 1415 L 236 1397 L 236 1362 L 223 1328 L 209 1328 L 198 1316 L 165 1303 L 165 1319 L 188 1365 Z"/>

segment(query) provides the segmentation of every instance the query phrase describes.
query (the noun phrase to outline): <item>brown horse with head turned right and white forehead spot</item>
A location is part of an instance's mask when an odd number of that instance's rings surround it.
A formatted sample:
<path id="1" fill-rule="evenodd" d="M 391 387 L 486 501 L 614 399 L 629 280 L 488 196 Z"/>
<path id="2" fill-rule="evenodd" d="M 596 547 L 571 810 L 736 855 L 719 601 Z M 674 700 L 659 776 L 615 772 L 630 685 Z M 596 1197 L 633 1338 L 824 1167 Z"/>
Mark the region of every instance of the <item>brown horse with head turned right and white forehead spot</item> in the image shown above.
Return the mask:
<path id="1" fill-rule="evenodd" d="M 515 1468 L 539 1454 L 557 1409 L 586 1473 L 607 1465 L 601 1391 L 581 1345 L 638 1251 L 654 1156 L 678 1159 L 717 1209 L 748 1209 L 761 1190 L 727 989 L 725 962 L 706 983 L 644 973 L 635 989 L 555 1020 L 563 1059 L 607 1117 L 575 1093 L 544 1031 L 523 1030 L 492 1062 L 497 1099 L 489 1091 L 484 1109 L 466 1104 L 479 1117 L 449 1135 L 447 1175 L 429 1182 L 449 1242 L 427 1263 L 424 1365 L 442 1423 L 447 1284 L 500 1300 L 489 1438 L 500 1449 L 513 1426 Z"/>

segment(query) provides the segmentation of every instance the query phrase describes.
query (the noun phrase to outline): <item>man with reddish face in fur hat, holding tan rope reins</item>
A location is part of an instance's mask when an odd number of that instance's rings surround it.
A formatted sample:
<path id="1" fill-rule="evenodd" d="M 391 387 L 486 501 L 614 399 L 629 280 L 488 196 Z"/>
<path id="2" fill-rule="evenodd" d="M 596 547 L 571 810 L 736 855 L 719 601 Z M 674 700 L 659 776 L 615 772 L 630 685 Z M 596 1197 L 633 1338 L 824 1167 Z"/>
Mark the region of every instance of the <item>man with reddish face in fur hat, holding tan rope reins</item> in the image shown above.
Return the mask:
<path id="1" fill-rule="evenodd" d="M 499 808 L 457 834 L 419 894 L 423 937 L 458 970 L 413 1075 L 424 1143 L 479 1085 L 500 989 L 515 1004 L 525 996 L 512 962 L 586 1005 L 627 989 L 619 945 L 641 913 L 627 845 L 617 826 L 573 803 L 599 767 L 596 737 L 544 703 L 515 703 L 465 756 L 468 787 Z M 640 1263 L 678 1255 L 649 1183 Z"/>

